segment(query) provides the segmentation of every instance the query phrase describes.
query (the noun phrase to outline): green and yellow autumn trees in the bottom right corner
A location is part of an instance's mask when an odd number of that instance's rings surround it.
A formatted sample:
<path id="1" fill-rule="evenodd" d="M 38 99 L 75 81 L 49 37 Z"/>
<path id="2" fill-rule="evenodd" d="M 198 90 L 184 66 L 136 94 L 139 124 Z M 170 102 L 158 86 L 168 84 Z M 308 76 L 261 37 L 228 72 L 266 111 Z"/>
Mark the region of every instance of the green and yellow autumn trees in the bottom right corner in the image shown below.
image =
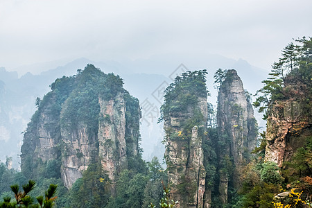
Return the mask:
<path id="1" fill-rule="evenodd" d="M 307 137 L 304 147 L 283 168 L 274 162 L 264 162 L 265 146 L 256 148 L 257 157 L 243 169 L 236 207 L 311 207 L 311 144 L 312 137 Z M 279 193 L 285 195 L 277 198 Z"/>

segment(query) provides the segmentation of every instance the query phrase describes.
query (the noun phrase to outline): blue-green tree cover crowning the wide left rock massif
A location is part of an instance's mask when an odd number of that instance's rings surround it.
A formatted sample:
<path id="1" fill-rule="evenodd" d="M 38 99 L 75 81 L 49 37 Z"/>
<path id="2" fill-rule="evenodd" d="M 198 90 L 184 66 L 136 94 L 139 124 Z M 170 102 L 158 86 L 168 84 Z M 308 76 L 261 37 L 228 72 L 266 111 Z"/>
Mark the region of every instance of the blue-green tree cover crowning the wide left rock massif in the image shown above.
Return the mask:
<path id="1" fill-rule="evenodd" d="M 109 101 L 120 92 L 128 92 L 123 89 L 123 80 L 114 73 L 103 73 L 93 64 L 87 64 L 84 70 L 78 69 L 78 73 L 73 76 L 63 76 L 50 85 L 51 92 L 46 94 L 42 100 L 37 98 L 35 105 L 38 108 L 33 114 L 31 121 L 38 121 L 42 107 L 49 107 L 49 116 L 62 118 L 60 124 L 69 128 L 77 125 L 77 122 L 87 124 L 88 132 L 94 132 L 98 128 L 100 106 L 98 97 Z M 53 101 L 53 102 L 51 102 Z"/>

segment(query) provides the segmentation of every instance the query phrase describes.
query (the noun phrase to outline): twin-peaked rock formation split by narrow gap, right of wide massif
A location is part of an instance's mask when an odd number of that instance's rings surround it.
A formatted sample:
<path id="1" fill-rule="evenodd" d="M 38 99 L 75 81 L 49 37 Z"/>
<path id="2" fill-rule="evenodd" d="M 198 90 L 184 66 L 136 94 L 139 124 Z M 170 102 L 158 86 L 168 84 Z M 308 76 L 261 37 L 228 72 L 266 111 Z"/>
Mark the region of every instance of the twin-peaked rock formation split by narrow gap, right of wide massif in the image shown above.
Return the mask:
<path id="1" fill-rule="evenodd" d="M 228 70 L 218 95 L 218 127 L 207 129 L 205 71 L 183 73 L 166 89 L 161 119 L 177 207 L 227 205 L 228 189 L 239 186 L 241 168 L 257 143 L 249 98 L 236 71 Z"/>

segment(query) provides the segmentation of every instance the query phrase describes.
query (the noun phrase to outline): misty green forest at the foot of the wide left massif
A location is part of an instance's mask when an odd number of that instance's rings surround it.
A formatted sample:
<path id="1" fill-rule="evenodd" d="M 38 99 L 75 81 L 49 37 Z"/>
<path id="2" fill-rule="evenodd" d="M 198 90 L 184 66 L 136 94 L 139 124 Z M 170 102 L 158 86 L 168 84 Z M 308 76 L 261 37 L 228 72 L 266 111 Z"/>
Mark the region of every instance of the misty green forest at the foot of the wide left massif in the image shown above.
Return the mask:
<path id="1" fill-rule="evenodd" d="M 91 164 L 71 189 L 67 190 L 59 177 L 39 177 L 26 182 L 23 172 L 8 170 L 0 164 L 0 207 L 158 207 L 169 200 L 166 171 L 157 157 L 141 164 L 144 168 L 122 171 L 112 184 L 100 163 Z M 11 186 L 12 184 L 16 184 Z M 19 191 L 21 184 L 24 192 Z M 26 187 L 26 188 L 25 188 Z M 49 189 L 46 191 L 46 187 Z M 56 190 L 56 187 L 58 189 Z M 53 194 L 51 194 L 53 193 Z M 54 196 L 58 196 L 55 198 Z M 41 197 L 45 195 L 45 197 Z M 40 197 L 37 197 L 40 196 Z M 15 198 L 15 200 L 14 200 Z M 37 199 L 37 204 L 35 204 Z M 2 202 L 1 202 L 2 200 Z M 171 199 L 168 201 L 171 203 Z M 167 203 L 168 204 L 168 203 Z M 174 203 L 172 204 L 174 205 Z"/>

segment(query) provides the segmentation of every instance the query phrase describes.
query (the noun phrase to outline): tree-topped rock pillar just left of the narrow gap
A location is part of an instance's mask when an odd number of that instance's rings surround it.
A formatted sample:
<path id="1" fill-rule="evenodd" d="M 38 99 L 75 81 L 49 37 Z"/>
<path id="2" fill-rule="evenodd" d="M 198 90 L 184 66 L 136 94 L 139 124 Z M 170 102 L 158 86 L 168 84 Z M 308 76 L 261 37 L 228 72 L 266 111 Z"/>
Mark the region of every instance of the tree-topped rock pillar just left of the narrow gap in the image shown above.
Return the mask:
<path id="1" fill-rule="evenodd" d="M 203 207 L 206 171 L 202 140 L 207 123 L 205 73 L 184 73 L 166 89 L 162 106 L 166 164 L 177 207 Z M 196 83 L 200 84 L 196 86 Z"/>

